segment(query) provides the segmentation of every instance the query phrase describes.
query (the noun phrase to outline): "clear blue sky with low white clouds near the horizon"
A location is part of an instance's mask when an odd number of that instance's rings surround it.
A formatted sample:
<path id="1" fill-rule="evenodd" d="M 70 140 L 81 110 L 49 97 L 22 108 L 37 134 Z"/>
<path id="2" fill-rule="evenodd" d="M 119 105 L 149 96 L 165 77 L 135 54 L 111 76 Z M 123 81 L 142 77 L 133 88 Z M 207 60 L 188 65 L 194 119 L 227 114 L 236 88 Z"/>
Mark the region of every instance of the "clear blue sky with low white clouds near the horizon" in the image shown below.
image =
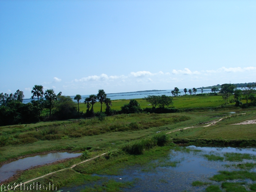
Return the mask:
<path id="1" fill-rule="evenodd" d="M 256 1 L 0 1 L 0 92 L 255 82 Z"/>

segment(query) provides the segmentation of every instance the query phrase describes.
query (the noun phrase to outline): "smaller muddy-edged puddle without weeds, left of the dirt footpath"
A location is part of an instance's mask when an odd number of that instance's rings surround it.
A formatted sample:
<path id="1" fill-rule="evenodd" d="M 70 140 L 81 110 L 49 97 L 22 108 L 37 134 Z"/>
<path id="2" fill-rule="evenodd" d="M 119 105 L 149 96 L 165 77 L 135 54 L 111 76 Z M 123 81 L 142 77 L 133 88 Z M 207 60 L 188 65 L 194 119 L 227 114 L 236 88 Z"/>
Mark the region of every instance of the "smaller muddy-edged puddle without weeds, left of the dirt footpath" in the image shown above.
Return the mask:
<path id="1" fill-rule="evenodd" d="M 8 164 L 4 164 L 2 167 L 0 167 L 0 182 L 12 177 L 12 175 L 14 175 L 15 172 L 18 170 L 26 170 L 30 167 L 53 163 L 61 159 L 77 157 L 80 156 L 81 154 L 82 153 L 68 152 L 49 153 L 44 155 L 25 157 Z"/>

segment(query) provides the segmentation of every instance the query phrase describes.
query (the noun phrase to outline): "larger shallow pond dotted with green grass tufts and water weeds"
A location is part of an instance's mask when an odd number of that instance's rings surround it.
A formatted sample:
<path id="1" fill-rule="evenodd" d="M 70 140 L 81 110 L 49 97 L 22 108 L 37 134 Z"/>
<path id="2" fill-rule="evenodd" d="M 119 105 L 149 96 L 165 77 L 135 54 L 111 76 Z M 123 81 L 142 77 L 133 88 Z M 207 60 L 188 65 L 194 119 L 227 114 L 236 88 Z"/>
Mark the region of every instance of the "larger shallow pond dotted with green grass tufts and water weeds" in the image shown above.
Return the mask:
<path id="1" fill-rule="evenodd" d="M 220 182 L 209 180 L 210 177 L 217 174 L 218 171 L 239 170 L 233 164 L 252 162 L 255 159 L 243 159 L 242 161 L 210 161 L 204 155 L 215 155 L 224 157 L 226 153 L 239 153 L 256 155 L 255 148 L 213 148 L 213 147 L 195 147 L 189 146 L 181 150 L 171 150 L 168 157 L 153 161 L 145 166 L 131 166 L 123 170 L 119 176 L 100 175 L 101 183 L 112 179 L 116 182 L 134 181 L 133 187 L 122 188 L 123 191 L 204 191 L 207 187 L 193 187 L 193 181 L 202 181 L 220 186 Z M 176 166 L 170 166 L 171 162 L 176 162 Z M 153 168 L 155 167 L 155 168 Z M 251 171 L 256 172 L 255 168 Z M 122 178 L 122 180 L 120 180 Z M 246 180 L 252 183 L 251 180 Z M 73 188 L 62 188 L 62 192 L 80 191 L 86 187 L 93 187 L 94 184 L 101 184 L 99 181 L 87 183 Z M 209 186 L 209 185 L 208 185 Z"/>

